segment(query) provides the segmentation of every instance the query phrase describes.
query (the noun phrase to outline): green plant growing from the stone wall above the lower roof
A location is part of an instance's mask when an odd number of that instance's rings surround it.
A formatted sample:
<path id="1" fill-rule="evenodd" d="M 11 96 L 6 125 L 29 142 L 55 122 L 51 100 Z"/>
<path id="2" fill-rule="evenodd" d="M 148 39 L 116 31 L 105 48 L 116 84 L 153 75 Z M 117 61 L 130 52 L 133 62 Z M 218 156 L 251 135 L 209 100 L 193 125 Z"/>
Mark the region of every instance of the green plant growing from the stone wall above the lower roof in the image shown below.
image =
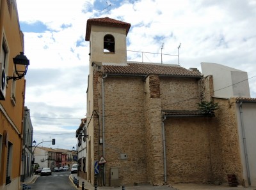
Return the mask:
<path id="1" fill-rule="evenodd" d="M 198 110 L 203 115 L 206 115 L 207 117 L 214 117 L 215 116 L 215 110 L 218 110 L 219 103 L 213 103 L 212 101 L 201 101 L 198 104 Z"/>

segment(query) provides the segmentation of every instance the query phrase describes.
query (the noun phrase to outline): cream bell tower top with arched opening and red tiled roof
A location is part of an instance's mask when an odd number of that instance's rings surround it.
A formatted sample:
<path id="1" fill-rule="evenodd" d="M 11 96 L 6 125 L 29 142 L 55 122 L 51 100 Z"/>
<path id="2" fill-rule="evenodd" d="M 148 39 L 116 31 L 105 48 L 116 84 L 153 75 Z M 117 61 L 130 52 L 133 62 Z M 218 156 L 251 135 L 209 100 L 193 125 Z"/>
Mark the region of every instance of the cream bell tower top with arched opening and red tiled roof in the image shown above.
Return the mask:
<path id="1" fill-rule="evenodd" d="M 109 17 L 90 18 L 85 40 L 90 41 L 90 62 L 126 63 L 126 36 L 131 24 Z"/>

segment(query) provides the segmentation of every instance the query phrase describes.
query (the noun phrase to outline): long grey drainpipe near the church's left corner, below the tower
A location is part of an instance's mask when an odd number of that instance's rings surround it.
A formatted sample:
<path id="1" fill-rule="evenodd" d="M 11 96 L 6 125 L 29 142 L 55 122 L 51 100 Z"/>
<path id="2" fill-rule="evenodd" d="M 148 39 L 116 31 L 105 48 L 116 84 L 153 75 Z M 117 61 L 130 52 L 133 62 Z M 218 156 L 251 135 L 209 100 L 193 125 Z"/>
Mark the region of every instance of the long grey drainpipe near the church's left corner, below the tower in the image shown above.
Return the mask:
<path id="1" fill-rule="evenodd" d="M 105 157 L 105 106 L 104 106 L 104 78 L 108 76 L 105 75 L 102 77 L 102 154 Z M 106 186 L 106 168 L 105 164 L 103 164 L 103 185 Z"/>

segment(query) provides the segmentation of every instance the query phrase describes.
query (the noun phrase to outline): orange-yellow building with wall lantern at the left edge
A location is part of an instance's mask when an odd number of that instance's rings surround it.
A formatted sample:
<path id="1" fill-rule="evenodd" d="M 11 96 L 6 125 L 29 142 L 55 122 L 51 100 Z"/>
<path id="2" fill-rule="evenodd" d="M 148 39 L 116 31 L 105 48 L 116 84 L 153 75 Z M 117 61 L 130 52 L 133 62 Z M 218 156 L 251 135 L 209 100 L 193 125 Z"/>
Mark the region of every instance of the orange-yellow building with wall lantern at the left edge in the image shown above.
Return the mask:
<path id="1" fill-rule="evenodd" d="M 0 0 L 0 43 L 0 189 L 13 190 L 20 186 L 26 86 L 24 78 L 19 78 L 17 73 L 26 66 L 15 69 L 13 63 L 13 57 L 24 52 L 15 0 Z"/>

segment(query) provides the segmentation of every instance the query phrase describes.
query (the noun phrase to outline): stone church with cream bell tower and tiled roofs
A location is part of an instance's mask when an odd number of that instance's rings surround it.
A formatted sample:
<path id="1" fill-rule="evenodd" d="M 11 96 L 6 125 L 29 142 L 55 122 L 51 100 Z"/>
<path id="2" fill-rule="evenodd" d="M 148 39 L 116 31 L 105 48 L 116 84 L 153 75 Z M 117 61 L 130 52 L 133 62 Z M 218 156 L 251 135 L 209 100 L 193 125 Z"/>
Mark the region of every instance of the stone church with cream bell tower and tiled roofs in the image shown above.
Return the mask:
<path id="1" fill-rule="evenodd" d="M 99 186 L 225 183 L 235 174 L 246 186 L 237 140 L 239 99 L 214 97 L 214 77 L 197 69 L 127 61 L 130 27 L 108 17 L 87 20 L 84 179 Z M 220 104 L 216 117 L 198 110 L 200 101 L 211 100 Z"/>

